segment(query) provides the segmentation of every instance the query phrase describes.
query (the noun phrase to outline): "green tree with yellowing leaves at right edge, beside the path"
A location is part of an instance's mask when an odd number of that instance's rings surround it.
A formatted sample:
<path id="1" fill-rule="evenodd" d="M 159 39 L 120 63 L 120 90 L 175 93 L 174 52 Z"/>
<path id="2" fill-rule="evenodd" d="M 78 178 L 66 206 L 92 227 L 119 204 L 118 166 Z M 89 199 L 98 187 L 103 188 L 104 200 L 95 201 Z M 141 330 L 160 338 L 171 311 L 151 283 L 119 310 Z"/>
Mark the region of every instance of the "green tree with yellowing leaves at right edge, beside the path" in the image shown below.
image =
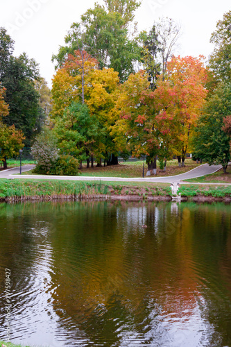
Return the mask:
<path id="1" fill-rule="evenodd" d="M 209 165 L 221 164 L 224 172 L 230 161 L 230 135 L 224 131 L 225 119 L 230 115 L 231 83 L 220 83 L 198 119 L 194 154 Z"/>

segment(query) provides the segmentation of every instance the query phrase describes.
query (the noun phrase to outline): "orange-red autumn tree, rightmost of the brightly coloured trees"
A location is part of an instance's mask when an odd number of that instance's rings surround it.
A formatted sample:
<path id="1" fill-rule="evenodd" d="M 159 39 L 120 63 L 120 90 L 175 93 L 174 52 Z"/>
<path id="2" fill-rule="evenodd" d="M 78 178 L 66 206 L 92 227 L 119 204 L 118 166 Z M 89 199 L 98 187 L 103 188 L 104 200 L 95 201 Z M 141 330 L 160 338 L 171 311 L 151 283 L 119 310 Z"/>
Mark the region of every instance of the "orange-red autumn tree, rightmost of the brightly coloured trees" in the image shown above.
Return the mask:
<path id="1" fill-rule="evenodd" d="M 191 135 L 207 95 L 207 72 L 203 59 L 203 56 L 171 58 L 164 81 L 160 76 L 155 90 L 157 122 L 171 139 L 172 151 L 178 156 L 179 166 L 185 165 Z"/>

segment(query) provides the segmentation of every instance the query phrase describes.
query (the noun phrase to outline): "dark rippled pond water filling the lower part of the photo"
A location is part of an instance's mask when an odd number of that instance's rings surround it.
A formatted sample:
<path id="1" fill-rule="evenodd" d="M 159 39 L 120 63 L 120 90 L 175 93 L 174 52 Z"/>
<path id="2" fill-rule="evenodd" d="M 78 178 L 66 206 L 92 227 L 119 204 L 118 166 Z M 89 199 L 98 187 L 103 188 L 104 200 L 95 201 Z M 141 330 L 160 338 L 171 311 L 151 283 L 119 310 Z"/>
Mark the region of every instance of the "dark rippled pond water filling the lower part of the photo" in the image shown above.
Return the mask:
<path id="1" fill-rule="evenodd" d="M 0 205 L 0 338 L 8 268 L 14 343 L 231 346 L 230 217 L 223 203 Z"/>

